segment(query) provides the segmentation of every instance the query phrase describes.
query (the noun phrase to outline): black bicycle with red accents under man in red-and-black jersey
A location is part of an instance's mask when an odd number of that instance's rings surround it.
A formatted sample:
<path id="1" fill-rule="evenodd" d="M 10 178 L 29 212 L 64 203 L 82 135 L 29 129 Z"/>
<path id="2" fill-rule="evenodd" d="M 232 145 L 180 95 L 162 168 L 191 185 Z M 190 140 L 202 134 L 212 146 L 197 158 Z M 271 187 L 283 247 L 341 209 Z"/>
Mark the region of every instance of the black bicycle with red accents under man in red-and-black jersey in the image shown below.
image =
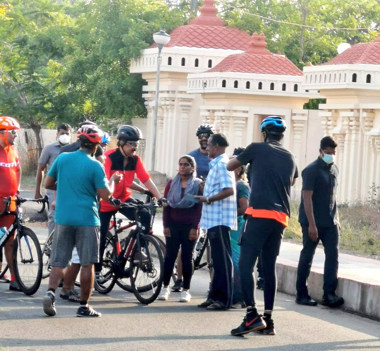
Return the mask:
<path id="1" fill-rule="evenodd" d="M 95 280 L 94 287 L 99 293 L 108 294 L 118 279 L 129 278 L 131 290 L 137 300 L 149 304 L 156 300 L 161 291 L 163 250 L 154 236 L 143 234 L 139 212 L 143 208 L 160 207 L 161 204 L 154 201 L 120 202 L 117 199 L 112 199 L 111 203 L 134 208 L 135 221 L 122 227 L 123 229 L 117 228 L 113 235 L 107 237 L 102 271 Z M 124 243 L 121 243 L 119 233 L 126 227 L 132 227 L 134 222 L 136 229 L 131 230 Z"/>

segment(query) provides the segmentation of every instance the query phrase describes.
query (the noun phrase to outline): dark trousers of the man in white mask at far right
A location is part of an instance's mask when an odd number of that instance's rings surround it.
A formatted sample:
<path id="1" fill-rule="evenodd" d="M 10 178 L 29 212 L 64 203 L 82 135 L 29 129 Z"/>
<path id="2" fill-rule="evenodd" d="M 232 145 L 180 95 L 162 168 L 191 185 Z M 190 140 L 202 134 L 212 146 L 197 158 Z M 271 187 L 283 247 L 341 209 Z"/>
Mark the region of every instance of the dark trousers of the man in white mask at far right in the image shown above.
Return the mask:
<path id="1" fill-rule="evenodd" d="M 339 228 L 338 225 L 331 227 L 317 227 L 318 240 L 309 238 L 309 226 L 301 225 L 303 249 L 297 269 L 297 296 L 308 295 L 307 280 L 313 263 L 314 253 L 321 239 L 325 248 L 325 271 L 324 271 L 324 295 L 334 293 L 338 285 L 338 252 L 339 252 Z"/>

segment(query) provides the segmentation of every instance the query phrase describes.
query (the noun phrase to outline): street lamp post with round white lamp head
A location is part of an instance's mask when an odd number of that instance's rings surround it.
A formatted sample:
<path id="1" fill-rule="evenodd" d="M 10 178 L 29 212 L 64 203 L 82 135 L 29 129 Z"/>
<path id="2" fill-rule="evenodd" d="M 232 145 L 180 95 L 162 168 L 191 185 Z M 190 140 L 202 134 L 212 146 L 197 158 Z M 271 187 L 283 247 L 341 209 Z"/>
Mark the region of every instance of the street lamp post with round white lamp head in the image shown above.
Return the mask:
<path id="1" fill-rule="evenodd" d="M 156 143 L 157 143 L 157 115 L 159 110 L 159 89 L 160 89 L 160 68 L 161 68 L 161 51 L 163 46 L 170 41 L 170 36 L 162 29 L 160 32 L 153 34 L 153 40 L 159 48 L 159 54 L 157 56 L 157 75 L 156 75 L 156 97 L 155 97 L 155 109 L 153 114 L 153 148 L 152 148 L 152 170 L 155 170 L 156 166 Z"/>

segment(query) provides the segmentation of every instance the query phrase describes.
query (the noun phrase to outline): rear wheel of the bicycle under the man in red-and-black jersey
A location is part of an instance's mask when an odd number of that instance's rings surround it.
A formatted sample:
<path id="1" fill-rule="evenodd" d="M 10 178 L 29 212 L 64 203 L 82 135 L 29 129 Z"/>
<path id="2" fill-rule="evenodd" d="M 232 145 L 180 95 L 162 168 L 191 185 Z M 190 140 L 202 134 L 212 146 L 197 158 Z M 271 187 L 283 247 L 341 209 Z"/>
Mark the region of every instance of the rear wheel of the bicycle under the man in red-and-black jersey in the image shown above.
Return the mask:
<path id="1" fill-rule="evenodd" d="M 113 262 L 116 260 L 115 237 L 107 237 L 103 253 L 103 265 L 99 277 L 95 279 L 94 288 L 98 293 L 108 294 L 114 287 L 116 277 L 113 274 Z"/>

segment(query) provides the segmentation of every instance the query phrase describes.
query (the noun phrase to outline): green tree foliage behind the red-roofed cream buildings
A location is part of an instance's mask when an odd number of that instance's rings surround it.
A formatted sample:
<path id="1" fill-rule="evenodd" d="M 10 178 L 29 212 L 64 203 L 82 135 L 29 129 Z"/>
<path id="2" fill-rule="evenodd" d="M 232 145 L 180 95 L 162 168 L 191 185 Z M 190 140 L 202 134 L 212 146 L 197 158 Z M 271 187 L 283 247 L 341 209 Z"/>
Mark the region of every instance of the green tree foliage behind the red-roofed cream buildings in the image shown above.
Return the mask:
<path id="1" fill-rule="evenodd" d="M 41 125 L 96 120 L 105 128 L 144 116 L 132 58 L 195 15 L 196 0 L 10 0 L 0 4 L 0 114 L 36 134 Z M 198 4 L 201 1 L 198 1 Z M 341 42 L 373 40 L 377 0 L 231 0 L 227 25 L 264 32 L 269 49 L 302 68 L 326 62 Z M 286 23 L 284 23 L 286 22 Z M 373 28 L 344 30 L 337 28 Z"/>

